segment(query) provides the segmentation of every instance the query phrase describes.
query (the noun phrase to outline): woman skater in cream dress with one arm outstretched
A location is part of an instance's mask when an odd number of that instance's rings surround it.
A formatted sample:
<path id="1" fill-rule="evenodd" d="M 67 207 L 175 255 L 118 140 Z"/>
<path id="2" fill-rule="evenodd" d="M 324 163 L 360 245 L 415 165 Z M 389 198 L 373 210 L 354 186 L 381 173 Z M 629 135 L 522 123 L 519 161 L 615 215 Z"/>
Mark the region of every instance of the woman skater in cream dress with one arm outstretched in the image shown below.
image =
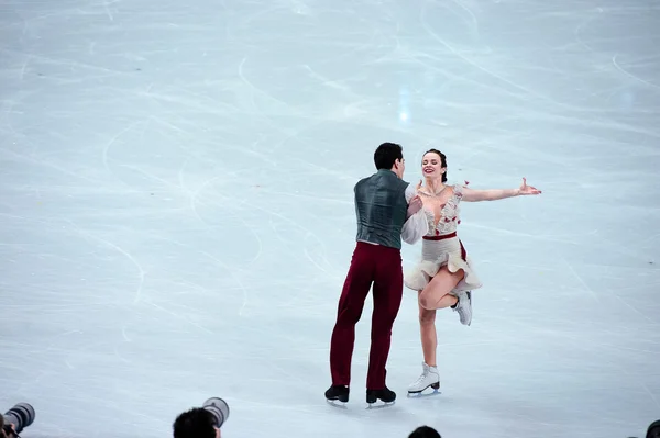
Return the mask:
<path id="1" fill-rule="evenodd" d="M 451 307 L 459 313 L 460 322 L 472 322 L 471 291 L 482 287 L 463 244 L 457 236 L 461 201 L 495 201 L 506 198 L 540 194 L 541 191 L 522 178 L 518 189 L 472 190 L 464 186 L 447 186 L 447 157 L 440 150 L 428 150 L 421 161 L 424 186 L 418 186 L 427 221 L 417 229 L 424 234 L 421 261 L 405 277 L 405 285 L 418 291 L 419 326 L 424 351 L 424 371 L 408 388 L 408 393 L 420 393 L 431 386 L 440 388 L 436 363 L 436 311 Z M 410 229 L 405 231 L 411 234 Z M 408 240 L 407 236 L 403 236 Z"/>

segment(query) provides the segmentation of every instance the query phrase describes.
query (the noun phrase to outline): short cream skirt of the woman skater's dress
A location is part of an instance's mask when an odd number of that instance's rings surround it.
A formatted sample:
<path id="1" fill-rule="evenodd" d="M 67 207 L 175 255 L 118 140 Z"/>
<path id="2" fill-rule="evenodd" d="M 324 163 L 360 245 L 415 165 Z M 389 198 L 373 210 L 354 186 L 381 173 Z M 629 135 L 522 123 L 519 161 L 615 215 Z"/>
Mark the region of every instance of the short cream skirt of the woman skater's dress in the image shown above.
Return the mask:
<path id="1" fill-rule="evenodd" d="M 460 269 L 464 272 L 463 279 L 451 291 L 452 294 L 473 291 L 482 287 L 471 266 L 470 257 L 458 237 L 443 240 L 421 240 L 421 261 L 404 276 L 404 284 L 414 291 L 421 291 L 443 266 L 447 266 L 450 272 L 457 272 Z"/>

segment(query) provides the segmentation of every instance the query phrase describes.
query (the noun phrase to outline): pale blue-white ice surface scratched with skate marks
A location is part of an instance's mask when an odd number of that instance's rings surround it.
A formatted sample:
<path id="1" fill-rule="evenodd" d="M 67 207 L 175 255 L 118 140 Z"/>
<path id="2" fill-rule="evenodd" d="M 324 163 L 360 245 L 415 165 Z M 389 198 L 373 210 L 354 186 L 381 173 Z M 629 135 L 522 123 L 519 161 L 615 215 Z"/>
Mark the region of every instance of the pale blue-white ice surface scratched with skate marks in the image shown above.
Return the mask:
<path id="1" fill-rule="evenodd" d="M 0 409 L 23 438 L 162 438 L 226 398 L 223 436 L 640 436 L 660 418 L 660 5 L 653 1 L 7 0 L 0 4 Z M 353 184 L 382 142 L 406 179 L 540 196 L 463 204 L 484 287 L 415 294 L 386 409 L 329 405 Z M 420 245 L 405 246 L 405 268 Z"/>

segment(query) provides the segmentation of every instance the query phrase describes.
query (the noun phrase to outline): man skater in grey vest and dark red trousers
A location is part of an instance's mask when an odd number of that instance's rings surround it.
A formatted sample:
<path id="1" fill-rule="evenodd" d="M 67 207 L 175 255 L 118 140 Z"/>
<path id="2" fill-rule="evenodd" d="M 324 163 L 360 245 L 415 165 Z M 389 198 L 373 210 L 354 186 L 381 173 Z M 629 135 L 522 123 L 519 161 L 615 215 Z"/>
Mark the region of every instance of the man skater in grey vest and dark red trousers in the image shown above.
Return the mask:
<path id="1" fill-rule="evenodd" d="M 392 327 L 403 297 L 402 232 L 410 216 L 421 209 L 416 188 L 403 180 L 403 148 L 383 143 L 374 154 L 376 173 L 360 180 L 354 188 L 358 216 L 356 245 L 345 278 L 337 323 L 330 346 L 332 385 L 328 401 L 349 401 L 351 359 L 355 325 L 373 284 L 371 351 L 366 380 L 366 403 L 394 402 L 396 394 L 385 384 L 385 366 L 389 355 Z M 415 220 L 426 220 L 417 215 Z M 410 220 L 413 221 L 413 220 Z M 414 243 L 421 236 L 407 237 Z"/>

